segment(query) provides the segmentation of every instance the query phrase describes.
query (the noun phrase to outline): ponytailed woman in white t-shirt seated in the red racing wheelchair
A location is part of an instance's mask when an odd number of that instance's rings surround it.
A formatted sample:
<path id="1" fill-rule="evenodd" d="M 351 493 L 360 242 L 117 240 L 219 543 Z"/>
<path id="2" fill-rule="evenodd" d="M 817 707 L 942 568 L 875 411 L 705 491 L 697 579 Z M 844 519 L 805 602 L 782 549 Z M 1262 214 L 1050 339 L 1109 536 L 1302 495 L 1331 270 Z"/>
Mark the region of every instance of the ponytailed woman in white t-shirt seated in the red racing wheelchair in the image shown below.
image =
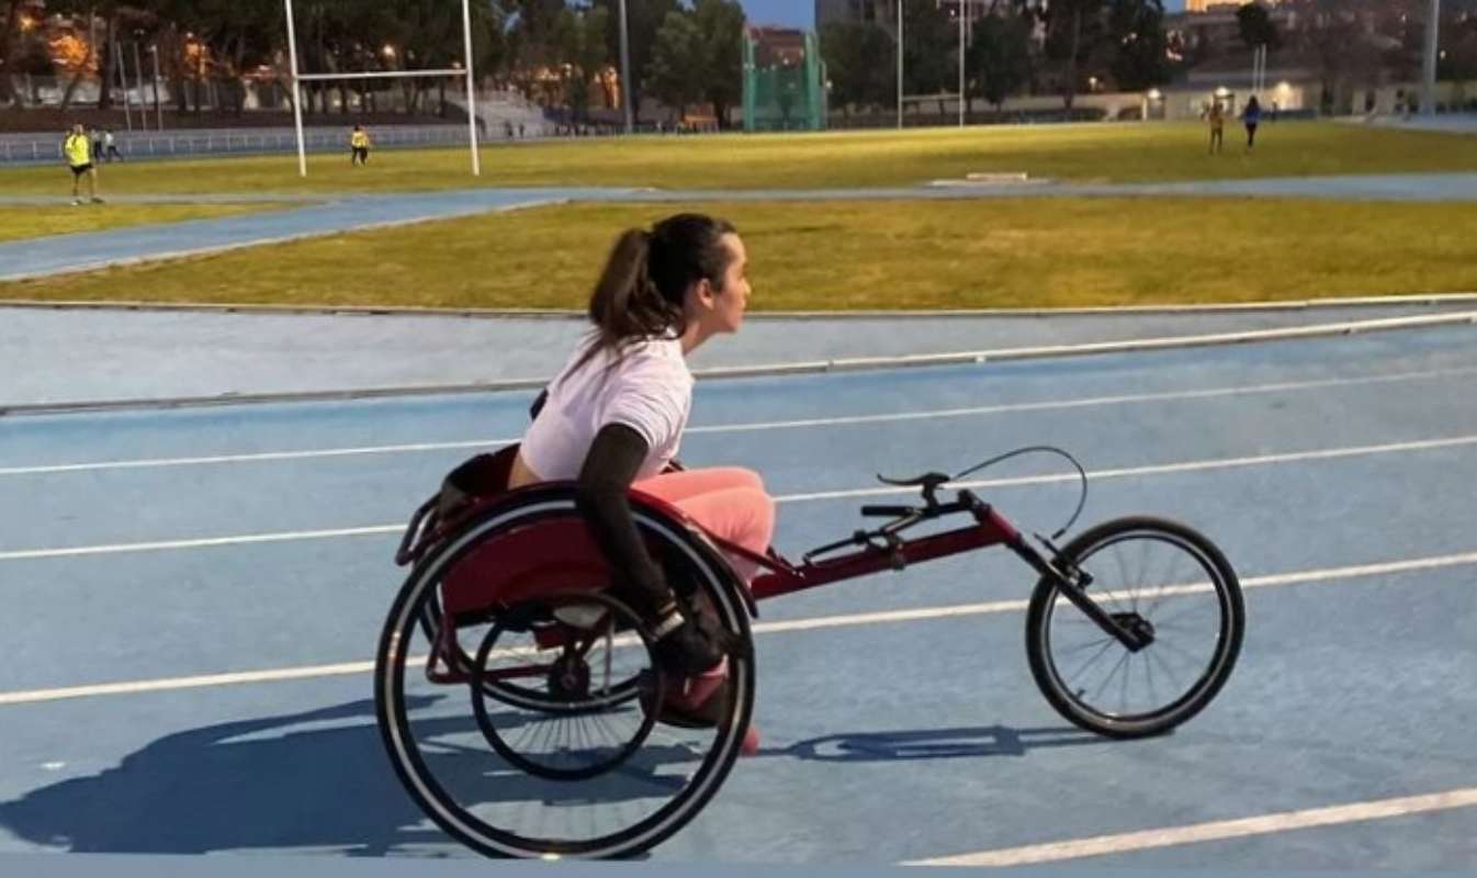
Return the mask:
<path id="1" fill-rule="evenodd" d="M 657 662 L 688 678 L 684 692 L 694 702 L 712 692 L 694 678 L 721 678 L 724 644 L 684 615 L 638 537 L 626 494 L 634 486 L 672 503 L 755 553 L 770 547 L 774 501 L 756 473 L 662 472 L 691 411 L 685 356 L 738 331 L 750 291 L 746 266 L 737 231 L 707 216 L 678 214 L 620 235 L 589 300 L 595 328 L 549 384 L 510 477 L 510 488 L 576 480 L 580 514 L 620 578 L 619 593 L 650 622 Z M 734 569 L 746 579 L 758 572 L 740 559 Z"/>

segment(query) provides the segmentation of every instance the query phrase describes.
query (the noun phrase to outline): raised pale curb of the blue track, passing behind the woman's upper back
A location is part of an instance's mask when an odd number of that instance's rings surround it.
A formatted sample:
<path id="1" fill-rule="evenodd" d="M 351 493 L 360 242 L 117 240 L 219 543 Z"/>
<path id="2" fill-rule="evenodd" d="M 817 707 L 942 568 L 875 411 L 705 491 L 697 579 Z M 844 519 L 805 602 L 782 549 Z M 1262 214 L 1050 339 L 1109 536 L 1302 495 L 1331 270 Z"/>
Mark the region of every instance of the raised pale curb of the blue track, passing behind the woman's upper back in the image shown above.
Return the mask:
<path id="1" fill-rule="evenodd" d="M 1419 330 L 1430 327 L 1477 325 L 1477 310 L 1382 318 L 1372 321 L 1344 321 L 1312 327 L 1288 327 L 1279 330 L 1252 330 L 1242 333 L 1213 333 L 1201 336 L 1168 336 L 1158 338 L 1136 338 L 1127 341 L 1090 341 L 1083 344 L 1047 344 L 1035 347 L 1004 347 L 995 350 L 962 350 L 953 353 L 920 353 L 907 356 L 863 356 L 826 359 L 777 365 L 719 367 L 696 370 L 700 381 L 724 378 L 756 378 L 777 375 L 805 375 L 852 371 L 882 371 L 911 367 L 978 365 L 987 362 L 1012 362 L 1028 359 L 1053 359 L 1089 356 L 1102 353 L 1139 353 L 1170 350 L 1179 347 L 1211 347 L 1229 344 L 1252 344 L 1285 341 L 1294 338 L 1319 338 L 1332 336 L 1354 336 L 1394 330 Z M 303 390 L 281 393 L 222 393 L 214 396 L 137 398 L 114 401 L 43 402 L 0 405 L 0 417 L 38 414 L 78 414 L 126 409 L 170 409 L 217 405 L 284 404 L 284 402 L 329 402 L 354 399 L 380 399 L 396 396 L 434 396 L 450 393 L 493 393 L 508 390 L 530 390 L 542 387 L 548 378 L 508 378 L 498 381 L 470 381 L 452 384 L 412 384 L 397 387 L 365 387 L 354 390 Z"/>

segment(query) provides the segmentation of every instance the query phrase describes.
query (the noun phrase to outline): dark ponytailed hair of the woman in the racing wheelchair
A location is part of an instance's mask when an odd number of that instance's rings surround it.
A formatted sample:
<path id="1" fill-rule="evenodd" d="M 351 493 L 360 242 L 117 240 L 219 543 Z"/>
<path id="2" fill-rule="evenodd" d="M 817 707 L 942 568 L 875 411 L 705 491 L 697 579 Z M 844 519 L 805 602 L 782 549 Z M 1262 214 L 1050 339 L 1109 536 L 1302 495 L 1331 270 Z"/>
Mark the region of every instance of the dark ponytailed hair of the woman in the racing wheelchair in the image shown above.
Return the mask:
<path id="1" fill-rule="evenodd" d="M 650 231 L 623 232 L 589 297 L 594 340 L 579 365 L 600 350 L 614 350 L 619 358 L 641 338 L 685 333 L 687 290 L 703 279 L 722 290 L 730 262 L 722 236 L 734 232 L 733 223 L 699 213 L 671 216 Z"/>

